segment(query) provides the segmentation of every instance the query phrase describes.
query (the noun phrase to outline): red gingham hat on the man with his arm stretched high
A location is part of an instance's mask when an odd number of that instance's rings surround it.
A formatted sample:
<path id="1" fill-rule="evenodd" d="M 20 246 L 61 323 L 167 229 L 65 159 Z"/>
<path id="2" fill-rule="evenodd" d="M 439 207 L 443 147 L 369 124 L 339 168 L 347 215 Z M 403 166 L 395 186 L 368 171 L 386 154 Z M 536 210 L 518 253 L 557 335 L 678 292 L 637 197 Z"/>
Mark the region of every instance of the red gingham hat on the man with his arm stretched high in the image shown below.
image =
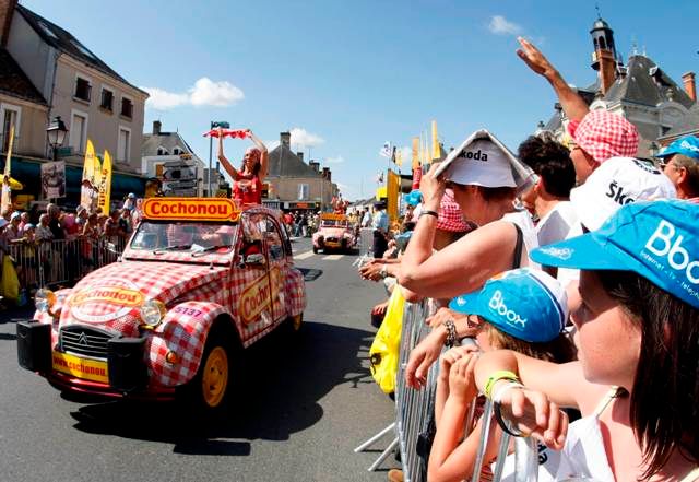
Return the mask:
<path id="1" fill-rule="evenodd" d="M 632 157 L 638 151 L 636 126 L 606 110 L 593 110 L 580 121 L 571 120 L 568 132 L 600 164 L 609 157 Z"/>

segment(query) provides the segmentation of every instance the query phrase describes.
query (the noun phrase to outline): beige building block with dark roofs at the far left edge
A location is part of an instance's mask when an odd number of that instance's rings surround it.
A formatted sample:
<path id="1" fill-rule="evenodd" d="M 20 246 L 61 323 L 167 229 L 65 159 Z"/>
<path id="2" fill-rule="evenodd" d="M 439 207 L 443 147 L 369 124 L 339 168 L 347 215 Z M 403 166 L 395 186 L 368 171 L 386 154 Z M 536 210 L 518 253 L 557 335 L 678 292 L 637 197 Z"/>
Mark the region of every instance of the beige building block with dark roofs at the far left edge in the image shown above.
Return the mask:
<path id="1" fill-rule="evenodd" d="M 0 1 L 0 139 L 7 152 L 10 126 L 16 139 L 12 176 L 20 191 L 38 199 L 40 165 L 66 162 L 67 191 L 61 202 L 80 197 L 87 139 L 98 155 L 114 160 L 112 199 L 142 193 L 143 117 L 149 94 L 129 83 L 71 33 L 16 0 Z M 48 145 L 46 129 L 59 117 L 68 128 L 62 146 Z M 4 156 L 3 156 L 4 157 Z"/>

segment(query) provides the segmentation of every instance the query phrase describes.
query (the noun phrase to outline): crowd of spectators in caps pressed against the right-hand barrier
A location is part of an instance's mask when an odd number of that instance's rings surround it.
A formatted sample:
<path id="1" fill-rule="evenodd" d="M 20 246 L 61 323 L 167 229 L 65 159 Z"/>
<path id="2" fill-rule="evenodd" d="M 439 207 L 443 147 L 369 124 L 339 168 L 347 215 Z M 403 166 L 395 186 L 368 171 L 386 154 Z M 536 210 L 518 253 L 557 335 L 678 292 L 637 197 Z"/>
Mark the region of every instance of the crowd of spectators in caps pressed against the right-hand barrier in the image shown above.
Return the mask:
<path id="1" fill-rule="evenodd" d="M 416 390 L 439 369 L 428 480 L 470 480 L 481 444 L 489 480 L 507 432 L 540 442 L 540 481 L 697 481 L 699 139 L 638 157 L 632 124 L 590 111 L 520 44 L 570 119 L 568 145 L 544 132 L 514 156 L 479 132 L 423 176 L 405 233 L 380 204 L 360 220 L 375 239 L 362 277 L 436 306 L 405 367 Z M 404 248 L 389 250 L 401 236 Z M 465 338 L 475 343 L 460 346 Z M 495 432 L 464 436 L 484 397 Z"/>

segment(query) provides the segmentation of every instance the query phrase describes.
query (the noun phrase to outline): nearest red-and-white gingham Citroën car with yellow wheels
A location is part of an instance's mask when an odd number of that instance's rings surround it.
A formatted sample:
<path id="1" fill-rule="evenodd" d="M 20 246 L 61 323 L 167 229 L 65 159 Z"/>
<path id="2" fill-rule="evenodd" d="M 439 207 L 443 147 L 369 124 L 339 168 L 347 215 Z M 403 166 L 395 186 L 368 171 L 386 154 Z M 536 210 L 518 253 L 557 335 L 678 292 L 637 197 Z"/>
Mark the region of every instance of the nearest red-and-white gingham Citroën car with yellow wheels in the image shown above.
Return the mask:
<path id="1" fill-rule="evenodd" d="M 39 293 L 34 320 L 17 325 L 20 364 L 60 389 L 181 392 L 215 409 L 239 378 L 230 372 L 242 349 L 285 321 L 300 327 L 304 277 L 275 211 L 247 208 L 225 222 L 154 211 L 119 261 Z"/>

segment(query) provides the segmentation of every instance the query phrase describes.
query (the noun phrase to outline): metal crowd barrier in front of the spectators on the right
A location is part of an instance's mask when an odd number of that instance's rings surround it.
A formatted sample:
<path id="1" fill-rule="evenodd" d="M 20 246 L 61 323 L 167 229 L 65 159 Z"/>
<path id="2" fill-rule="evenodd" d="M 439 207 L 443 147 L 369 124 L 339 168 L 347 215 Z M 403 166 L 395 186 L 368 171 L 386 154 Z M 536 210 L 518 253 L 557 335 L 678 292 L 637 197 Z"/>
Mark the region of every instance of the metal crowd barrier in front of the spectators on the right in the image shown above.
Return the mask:
<path id="1" fill-rule="evenodd" d="M 394 432 L 396 437 L 388 448 L 369 468 L 374 471 L 388 458 L 390 451 L 398 446 L 401 454 L 403 479 L 405 482 L 424 482 L 427 480 L 427 462 L 429 447 L 434 437 L 435 391 L 439 375 L 439 363 L 430 367 L 427 381 L 422 390 L 414 390 L 405 384 L 405 368 L 411 351 L 427 336 L 430 328 L 425 319 L 435 311 L 434 303 L 427 299 L 422 303 L 405 303 L 403 310 L 403 327 L 401 332 L 400 360 L 398 379 L 395 385 L 395 422 L 379 432 L 377 435 L 362 444 L 355 452 L 362 451 L 388 433 Z M 472 404 L 475 409 L 475 404 Z M 481 446 L 474 467 L 473 482 L 478 481 L 484 463 L 485 444 L 488 439 L 488 431 L 493 426 L 493 403 L 488 400 L 483 415 L 484 424 L 481 436 Z M 470 411 L 469 423 L 471 426 L 474 410 Z M 467 435 L 467 434 L 465 434 Z M 494 481 L 499 481 L 507 458 L 510 436 L 501 437 L 498 458 L 494 468 Z M 536 482 L 538 478 L 538 451 L 535 440 L 532 438 L 514 439 L 514 481 Z"/>

